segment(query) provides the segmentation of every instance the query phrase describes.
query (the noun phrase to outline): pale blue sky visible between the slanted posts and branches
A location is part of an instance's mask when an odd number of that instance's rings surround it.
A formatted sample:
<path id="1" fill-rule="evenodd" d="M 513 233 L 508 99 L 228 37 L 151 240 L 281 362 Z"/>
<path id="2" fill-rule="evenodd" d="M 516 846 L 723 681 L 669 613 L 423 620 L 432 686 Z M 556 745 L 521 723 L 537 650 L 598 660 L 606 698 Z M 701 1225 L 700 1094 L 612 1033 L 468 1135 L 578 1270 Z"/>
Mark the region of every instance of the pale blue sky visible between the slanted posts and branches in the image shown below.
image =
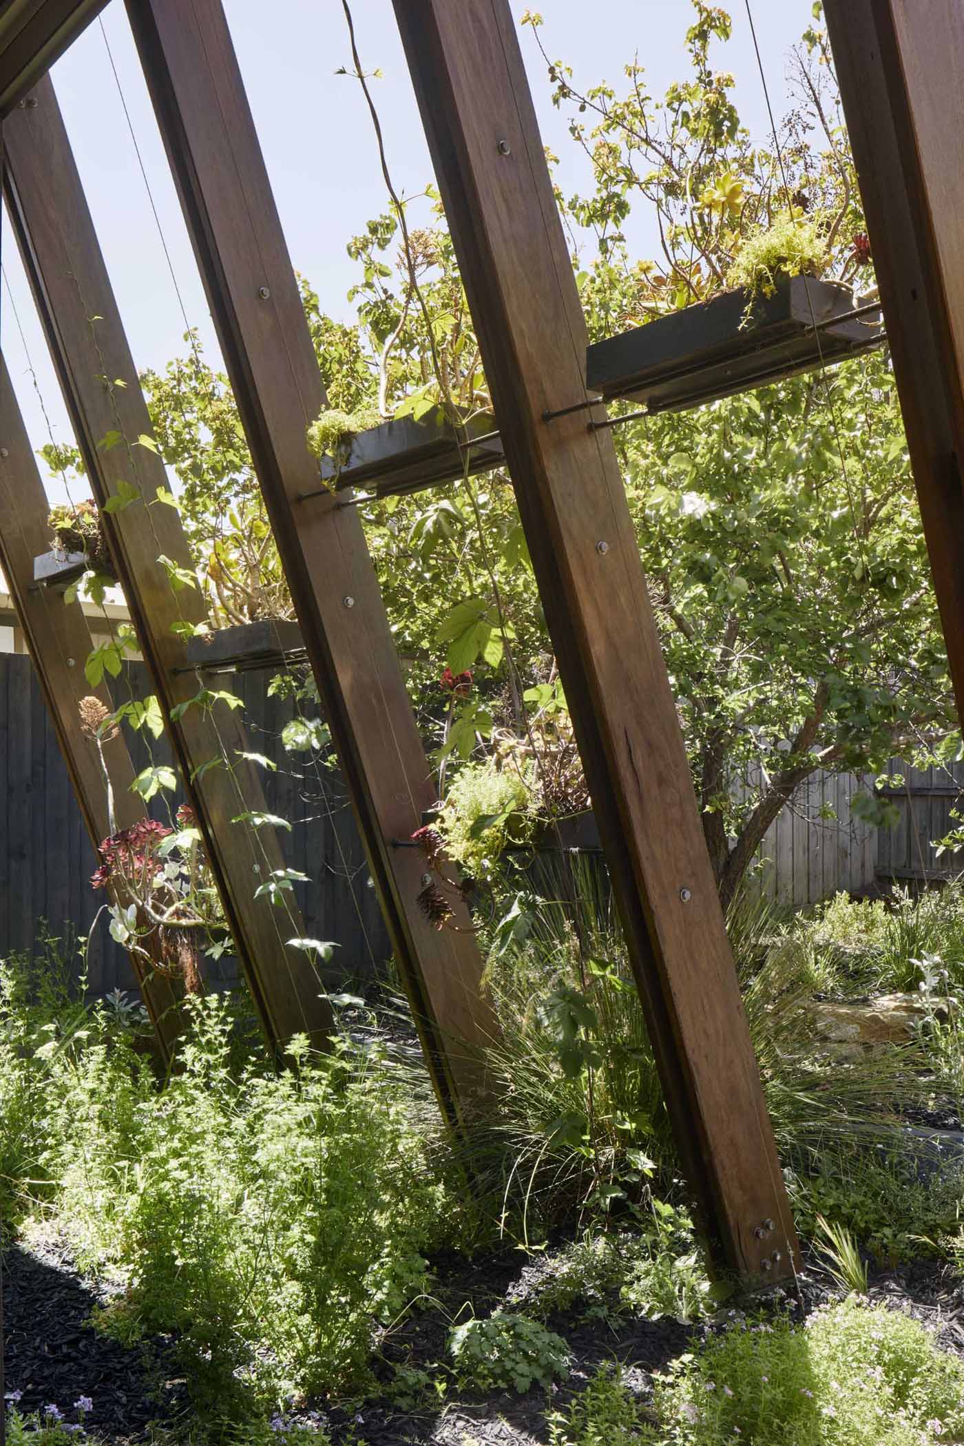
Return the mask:
<path id="1" fill-rule="evenodd" d="M 308 276 L 332 315 L 350 315 L 345 294 L 354 266 L 347 240 L 366 220 L 384 210 L 384 189 L 367 111 L 354 81 L 337 77 L 350 65 L 341 0 L 224 0 L 251 110 L 277 198 L 292 260 Z M 533 6 L 535 9 L 535 6 Z M 684 35 L 689 23 L 685 0 L 541 0 L 543 42 L 552 56 L 574 67 L 574 82 L 610 80 L 639 55 L 649 88 L 659 94 L 685 74 Z M 731 0 L 734 35 L 718 46 L 714 64 L 737 78 L 743 119 L 762 139 L 766 110 L 744 0 Z M 513 3 L 519 16 L 522 3 Z M 353 13 L 366 69 L 380 68 L 374 82 L 396 187 L 418 194 L 431 179 L 421 120 L 397 39 L 390 0 L 354 0 Z M 753 4 L 753 16 L 770 93 L 783 110 L 786 58 L 809 22 L 811 0 Z M 107 43 L 120 75 L 160 226 L 171 250 L 191 322 L 211 354 L 217 353 L 181 210 L 169 179 L 163 147 L 140 77 L 127 20 L 119 0 L 107 7 L 53 68 L 53 82 L 75 147 L 78 166 L 101 246 L 119 296 L 127 334 L 140 367 L 162 366 L 181 348 L 184 324 L 152 217 L 137 156 L 111 72 Z M 564 117 L 549 100 L 549 82 L 530 30 L 522 32 L 523 54 L 536 97 L 545 142 L 561 156 L 567 192 L 587 184 L 585 163 L 568 140 Z M 640 253 L 652 250 L 650 223 L 637 214 L 632 239 Z M 39 389 L 56 440 L 69 428 L 49 367 L 16 247 L 4 221 L 3 263 L 26 334 Z M 14 377 L 35 445 L 48 441 L 46 422 L 27 375 L 10 292 L 0 302 L 0 341 Z M 56 487 L 51 486 L 52 496 Z"/>

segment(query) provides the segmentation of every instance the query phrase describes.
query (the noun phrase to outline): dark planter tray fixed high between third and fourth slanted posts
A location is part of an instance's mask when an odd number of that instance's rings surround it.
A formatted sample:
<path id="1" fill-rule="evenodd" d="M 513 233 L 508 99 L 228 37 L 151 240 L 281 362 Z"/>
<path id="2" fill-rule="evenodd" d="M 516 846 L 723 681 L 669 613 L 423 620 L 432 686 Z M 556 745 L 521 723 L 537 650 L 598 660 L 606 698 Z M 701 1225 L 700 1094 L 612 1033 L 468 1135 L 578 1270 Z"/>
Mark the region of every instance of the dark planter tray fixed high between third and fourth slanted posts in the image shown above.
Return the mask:
<path id="1" fill-rule="evenodd" d="M 328 487 L 318 490 L 364 487 L 379 497 L 392 497 L 500 467 L 502 441 L 493 435 L 491 416 L 473 416 L 465 429 L 470 438 L 483 438 L 468 448 L 468 469 L 464 431 L 445 421 L 441 406 L 419 416 L 418 422 L 410 416 L 382 422 L 351 438 L 351 451 L 340 467 L 330 457 L 321 458 L 321 476 Z"/>

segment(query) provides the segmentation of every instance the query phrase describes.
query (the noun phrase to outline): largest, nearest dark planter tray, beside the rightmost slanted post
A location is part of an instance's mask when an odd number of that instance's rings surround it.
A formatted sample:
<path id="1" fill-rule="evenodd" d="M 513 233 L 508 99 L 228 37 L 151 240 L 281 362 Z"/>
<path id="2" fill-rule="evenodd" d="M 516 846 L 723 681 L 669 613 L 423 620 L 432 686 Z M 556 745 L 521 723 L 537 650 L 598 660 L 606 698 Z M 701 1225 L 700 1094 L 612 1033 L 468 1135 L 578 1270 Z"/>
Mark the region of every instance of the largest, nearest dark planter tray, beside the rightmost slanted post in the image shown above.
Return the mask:
<path id="1" fill-rule="evenodd" d="M 861 315 L 854 315 L 860 311 Z M 785 276 L 770 296 L 730 291 L 587 348 L 585 383 L 604 401 L 633 398 L 682 412 L 880 346 L 880 309 L 848 286 Z"/>

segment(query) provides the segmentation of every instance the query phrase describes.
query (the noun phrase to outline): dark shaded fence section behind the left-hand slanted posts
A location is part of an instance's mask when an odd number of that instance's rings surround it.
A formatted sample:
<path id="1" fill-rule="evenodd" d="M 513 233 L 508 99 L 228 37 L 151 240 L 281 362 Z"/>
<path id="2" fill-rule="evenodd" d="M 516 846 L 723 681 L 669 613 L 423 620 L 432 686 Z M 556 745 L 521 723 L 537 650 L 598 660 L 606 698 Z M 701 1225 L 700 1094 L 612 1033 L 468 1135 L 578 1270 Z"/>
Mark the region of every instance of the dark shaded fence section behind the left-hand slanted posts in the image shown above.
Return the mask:
<path id="1" fill-rule="evenodd" d="M 116 701 L 129 688 L 134 697 L 150 691 L 143 664 L 124 672 L 114 684 Z M 340 946 L 332 970 L 370 976 L 390 946 L 341 779 L 334 769 L 317 769 L 311 755 L 285 750 L 280 735 L 295 707 L 267 697 L 269 678 L 266 671 L 250 671 L 224 685 L 244 698 L 251 752 L 276 763 L 276 771 L 264 771 L 264 792 L 269 810 L 292 824 L 291 833 L 280 833 L 289 868 L 309 879 L 296 885 L 305 928 L 309 937 Z M 129 742 L 137 768 L 171 761 L 163 739 L 129 735 Z M 166 821 L 176 803 L 166 795 L 152 810 Z M 32 950 L 39 920 L 59 937 L 71 928 L 88 934 L 103 904 L 103 894 L 90 886 L 95 866 L 30 659 L 0 654 L 0 957 Z M 257 882 L 253 878 L 251 888 Z M 285 928 L 282 911 L 279 921 Z M 133 988 L 127 956 L 110 938 L 103 914 L 88 972 L 91 993 Z M 220 975 L 231 977 L 231 966 Z"/>

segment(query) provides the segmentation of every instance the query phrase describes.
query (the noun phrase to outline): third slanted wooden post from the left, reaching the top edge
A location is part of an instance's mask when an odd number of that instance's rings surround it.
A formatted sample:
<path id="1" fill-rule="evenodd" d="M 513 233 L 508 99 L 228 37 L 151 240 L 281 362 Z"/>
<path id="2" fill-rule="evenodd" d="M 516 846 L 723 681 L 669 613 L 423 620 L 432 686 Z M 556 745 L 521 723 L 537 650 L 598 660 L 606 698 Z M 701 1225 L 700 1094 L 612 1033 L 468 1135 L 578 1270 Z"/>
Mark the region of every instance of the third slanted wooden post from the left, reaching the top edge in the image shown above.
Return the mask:
<path id="1" fill-rule="evenodd" d="M 227 20 L 220 0 L 127 12 L 399 972 L 457 1109 L 494 1032 L 481 957 L 470 934 L 432 928 L 419 852 L 393 846 L 435 788 L 361 522 L 332 496 L 298 502 L 319 483 L 305 429 L 327 402 Z M 461 904 L 452 923 L 468 928 Z"/>

